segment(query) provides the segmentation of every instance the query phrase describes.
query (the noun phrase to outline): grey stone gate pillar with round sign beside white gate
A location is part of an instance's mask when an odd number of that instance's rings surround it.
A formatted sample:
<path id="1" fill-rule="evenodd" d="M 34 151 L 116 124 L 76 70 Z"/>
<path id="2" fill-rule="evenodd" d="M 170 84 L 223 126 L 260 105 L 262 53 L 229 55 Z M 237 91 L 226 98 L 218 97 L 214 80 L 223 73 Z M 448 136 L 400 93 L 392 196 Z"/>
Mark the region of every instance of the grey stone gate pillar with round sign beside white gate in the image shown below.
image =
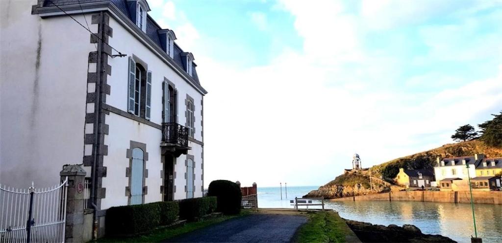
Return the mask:
<path id="1" fill-rule="evenodd" d="M 68 176 L 65 242 L 83 242 L 85 170 L 78 164 L 63 166 L 61 180 Z"/>

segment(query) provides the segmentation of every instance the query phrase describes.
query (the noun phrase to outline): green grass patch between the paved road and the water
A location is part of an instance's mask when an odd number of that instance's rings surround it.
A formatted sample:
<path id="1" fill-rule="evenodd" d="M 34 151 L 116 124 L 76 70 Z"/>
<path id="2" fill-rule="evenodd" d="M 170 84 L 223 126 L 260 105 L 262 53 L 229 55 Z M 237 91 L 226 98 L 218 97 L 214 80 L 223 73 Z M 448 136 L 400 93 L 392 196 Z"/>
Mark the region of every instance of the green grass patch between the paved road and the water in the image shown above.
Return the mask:
<path id="1" fill-rule="evenodd" d="M 345 242 L 345 236 L 356 237 L 336 212 L 310 212 L 308 216 L 296 232 L 296 242 Z"/>

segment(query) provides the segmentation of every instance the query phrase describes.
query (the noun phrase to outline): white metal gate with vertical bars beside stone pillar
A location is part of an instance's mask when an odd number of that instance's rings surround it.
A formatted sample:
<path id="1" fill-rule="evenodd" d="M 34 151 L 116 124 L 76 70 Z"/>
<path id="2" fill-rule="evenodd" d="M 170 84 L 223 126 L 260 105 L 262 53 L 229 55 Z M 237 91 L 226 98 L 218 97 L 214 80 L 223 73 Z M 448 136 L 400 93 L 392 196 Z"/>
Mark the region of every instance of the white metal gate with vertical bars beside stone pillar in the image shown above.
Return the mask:
<path id="1" fill-rule="evenodd" d="M 0 243 L 64 242 L 68 177 L 48 188 L 0 184 Z"/>

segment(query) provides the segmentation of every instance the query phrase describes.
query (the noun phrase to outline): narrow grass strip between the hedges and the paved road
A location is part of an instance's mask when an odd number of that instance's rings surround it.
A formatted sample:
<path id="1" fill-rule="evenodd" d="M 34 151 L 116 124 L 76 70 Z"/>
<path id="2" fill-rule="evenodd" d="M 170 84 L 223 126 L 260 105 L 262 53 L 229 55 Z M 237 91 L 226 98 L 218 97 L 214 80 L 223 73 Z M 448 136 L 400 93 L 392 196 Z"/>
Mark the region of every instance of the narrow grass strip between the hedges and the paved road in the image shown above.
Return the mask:
<path id="1" fill-rule="evenodd" d="M 248 215 L 249 213 L 249 211 L 241 211 L 240 214 L 237 215 L 223 215 L 215 218 L 203 219 L 197 222 L 187 222 L 185 225 L 179 227 L 155 229 L 145 235 L 135 237 L 104 237 L 95 242 L 159 242 L 161 240 L 207 227 L 215 223 L 223 222 L 231 218 Z"/>

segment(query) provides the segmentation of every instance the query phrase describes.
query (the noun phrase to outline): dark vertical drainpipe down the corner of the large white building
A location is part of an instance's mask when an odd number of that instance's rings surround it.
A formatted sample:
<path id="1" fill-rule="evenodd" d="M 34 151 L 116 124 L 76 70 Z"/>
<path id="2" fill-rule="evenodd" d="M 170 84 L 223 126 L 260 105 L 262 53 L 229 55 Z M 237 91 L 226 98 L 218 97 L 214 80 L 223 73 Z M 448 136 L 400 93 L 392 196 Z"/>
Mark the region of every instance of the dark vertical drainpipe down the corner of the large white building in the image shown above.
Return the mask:
<path id="1" fill-rule="evenodd" d="M 92 187 L 91 187 L 91 194 L 90 194 L 90 201 L 91 201 L 91 206 L 94 209 L 93 212 L 93 226 L 92 226 L 92 239 L 96 240 L 97 239 L 97 229 L 98 229 L 98 222 L 97 222 L 97 211 L 98 211 L 98 206 L 96 205 L 97 203 L 97 197 L 96 197 L 96 190 L 97 190 L 97 159 L 98 159 L 98 153 L 100 152 L 99 150 L 99 137 L 100 137 L 100 129 L 99 129 L 99 123 L 101 120 L 101 74 L 103 73 L 103 68 L 101 66 L 101 55 L 102 55 L 102 39 L 103 39 L 103 12 L 99 13 L 99 24 L 98 24 L 98 45 L 97 45 L 97 66 L 96 66 L 96 85 L 95 85 L 95 92 L 96 92 L 96 99 L 94 102 L 94 148 L 93 148 L 93 161 L 92 161 L 92 169 L 91 169 L 91 177 L 92 177 Z"/>

